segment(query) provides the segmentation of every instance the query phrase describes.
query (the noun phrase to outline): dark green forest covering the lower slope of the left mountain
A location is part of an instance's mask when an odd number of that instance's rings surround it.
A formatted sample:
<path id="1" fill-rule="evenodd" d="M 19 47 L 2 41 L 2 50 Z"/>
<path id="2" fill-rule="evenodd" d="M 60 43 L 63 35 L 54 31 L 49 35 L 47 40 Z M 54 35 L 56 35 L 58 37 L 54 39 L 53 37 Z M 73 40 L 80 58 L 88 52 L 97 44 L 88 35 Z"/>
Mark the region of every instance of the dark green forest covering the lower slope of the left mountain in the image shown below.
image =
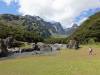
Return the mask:
<path id="1" fill-rule="evenodd" d="M 43 41 L 39 33 L 28 31 L 22 26 L 5 25 L 5 23 L 0 22 L 0 38 L 6 38 L 12 35 L 18 41 L 26 42 L 37 42 Z"/>

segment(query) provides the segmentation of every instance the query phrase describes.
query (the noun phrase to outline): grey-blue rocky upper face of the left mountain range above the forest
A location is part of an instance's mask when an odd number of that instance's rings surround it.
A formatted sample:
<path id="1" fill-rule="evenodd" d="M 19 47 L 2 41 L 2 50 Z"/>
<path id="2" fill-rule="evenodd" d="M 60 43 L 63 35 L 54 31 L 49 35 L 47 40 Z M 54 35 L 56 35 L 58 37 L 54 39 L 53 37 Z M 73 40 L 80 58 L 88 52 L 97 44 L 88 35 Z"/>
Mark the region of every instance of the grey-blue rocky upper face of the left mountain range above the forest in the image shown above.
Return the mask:
<path id="1" fill-rule="evenodd" d="M 39 32 L 41 36 L 48 37 L 51 34 L 64 34 L 65 31 L 59 22 L 48 22 L 39 16 L 20 16 L 12 14 L 1 14 L 0 21 L 10 25 L 19 25 L 24 27 L 27 31 Z M 50 32 L 51 31 L 51 32 Z"/>

